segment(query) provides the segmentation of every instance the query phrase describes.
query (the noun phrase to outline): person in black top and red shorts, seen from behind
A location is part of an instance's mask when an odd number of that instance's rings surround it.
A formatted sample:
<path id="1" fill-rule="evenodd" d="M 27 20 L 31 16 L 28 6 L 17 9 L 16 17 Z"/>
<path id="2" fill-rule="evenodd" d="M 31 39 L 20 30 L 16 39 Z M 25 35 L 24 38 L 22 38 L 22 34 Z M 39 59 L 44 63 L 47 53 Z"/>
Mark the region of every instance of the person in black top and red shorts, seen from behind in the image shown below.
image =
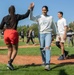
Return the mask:
<path id="1" fill-rule="evenodd" d="M 6 30 L 4 31 L 4 41 L 8 47 L 7 67 L 10 70 L 14 70 L 12 63 L 18 51 L 19 36 L 17 32 L 17 25 L 20 20 L 25 19 L 29 16 L 30 9 L 31 9 L 31 4 L 26 14 L 23 15 L 15 14 L 15 7 L 11 5 L 8 9 L 9 15 L 5 16 L 0 24 L 0 29 L 3 29 L 4 25 L 6 25 Z"/>

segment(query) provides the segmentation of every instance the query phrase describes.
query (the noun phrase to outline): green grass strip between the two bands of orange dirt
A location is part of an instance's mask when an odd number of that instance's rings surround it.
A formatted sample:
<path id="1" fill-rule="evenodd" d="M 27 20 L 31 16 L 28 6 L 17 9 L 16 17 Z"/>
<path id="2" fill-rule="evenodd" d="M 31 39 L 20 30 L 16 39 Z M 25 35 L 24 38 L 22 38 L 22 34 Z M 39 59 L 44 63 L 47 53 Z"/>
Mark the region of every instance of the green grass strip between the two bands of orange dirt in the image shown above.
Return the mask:
<path id="1" fill-rule="evenodd" d="M 74 47 L 66 47 L 66 50 L 69 51 L 69 55 L 74 54 Z M 0 50 L 0 54 L 7 54 L 7 50 Z M 61 51 L 56 47 L 52 46 L 51 55 L 58 56 L 61 54 Z M 18 50 L 18 55 L 40 55 L 39 47 L 37 48 L 21 48 Z"/>

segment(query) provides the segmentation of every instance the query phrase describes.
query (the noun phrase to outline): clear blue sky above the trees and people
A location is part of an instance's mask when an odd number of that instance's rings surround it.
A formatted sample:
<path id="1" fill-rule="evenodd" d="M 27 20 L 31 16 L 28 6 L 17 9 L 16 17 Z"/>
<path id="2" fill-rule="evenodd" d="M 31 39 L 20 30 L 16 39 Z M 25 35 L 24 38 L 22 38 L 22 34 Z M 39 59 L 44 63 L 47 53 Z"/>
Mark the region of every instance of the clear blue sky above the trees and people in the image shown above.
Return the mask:
<path id="1" fill-rule="evenodd" d="M 24 14 L 31 2 L 35 3 L 34 15 L 42 14 L 42 6 L 47 5 L 49 7 L 49 15 L 52 15 L 54 21 L 58 20 L 57 12 L 63 11 L 64 17 L 67 22 L 74 21 L 74 0 L 0 0 L 0 22 L 2 18 L 8 14 L 8 8 L 10 5 L 14 5 L 16 8 L 16 14 Z M 34 22 L 28 18 L 19 22 L 18 25 L 28 25 Z"/>

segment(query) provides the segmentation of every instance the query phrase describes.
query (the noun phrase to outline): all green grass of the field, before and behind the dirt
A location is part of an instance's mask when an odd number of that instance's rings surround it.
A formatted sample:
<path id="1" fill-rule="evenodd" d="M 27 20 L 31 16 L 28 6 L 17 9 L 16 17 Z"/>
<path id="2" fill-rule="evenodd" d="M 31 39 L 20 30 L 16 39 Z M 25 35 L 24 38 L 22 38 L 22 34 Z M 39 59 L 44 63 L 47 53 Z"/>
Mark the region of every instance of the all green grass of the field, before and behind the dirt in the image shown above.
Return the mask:
<path id="1" fill-rule="evenodd" d="M 19 45 L 24 43 L 19 42 Z M 0 46 L 5 46 L 3 40 L 0 40 Z M 69 55 L 74 54 L 74 47 L 66 47 Z M 60 50 L 56 46 L 52 46 L 51 55 L 60 55 Z M 0 50 L 0 54 L 6 55 L 7 50 Z M 39 47 L 37 48 L 21 48 L 18 55 L 38 56 L 40 55 Z M 1 61 L 1 60 L 0 60 Z M 15 65 L 16 70 L 10 71 L 6 69 L 6 64 L 0 64 L 0 75 L 74 75 L 73 64 L 52 65 L 51 70 L 45 71 L 44 67 L 39 65 Z"/>

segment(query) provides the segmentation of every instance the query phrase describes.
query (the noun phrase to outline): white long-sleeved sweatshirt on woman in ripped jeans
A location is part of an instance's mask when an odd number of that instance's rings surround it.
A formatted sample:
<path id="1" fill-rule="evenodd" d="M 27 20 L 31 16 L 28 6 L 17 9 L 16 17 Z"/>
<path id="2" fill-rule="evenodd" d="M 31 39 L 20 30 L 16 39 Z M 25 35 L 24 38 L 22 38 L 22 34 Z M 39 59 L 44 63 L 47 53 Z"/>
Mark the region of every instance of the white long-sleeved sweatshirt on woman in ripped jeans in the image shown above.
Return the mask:
<path id="1" fill-rule="evenodd" d="M 38 28 L 40 33 L 50 33 L 54 30 L 56 33 L 56 25 L 53 22 L 53 17 L 52 16 L 44 16 L 44 15 L 39 15 L 34 17 L 33 12 L 30 12 L 30 20 L 33 20 L 38 23 Z"/>

